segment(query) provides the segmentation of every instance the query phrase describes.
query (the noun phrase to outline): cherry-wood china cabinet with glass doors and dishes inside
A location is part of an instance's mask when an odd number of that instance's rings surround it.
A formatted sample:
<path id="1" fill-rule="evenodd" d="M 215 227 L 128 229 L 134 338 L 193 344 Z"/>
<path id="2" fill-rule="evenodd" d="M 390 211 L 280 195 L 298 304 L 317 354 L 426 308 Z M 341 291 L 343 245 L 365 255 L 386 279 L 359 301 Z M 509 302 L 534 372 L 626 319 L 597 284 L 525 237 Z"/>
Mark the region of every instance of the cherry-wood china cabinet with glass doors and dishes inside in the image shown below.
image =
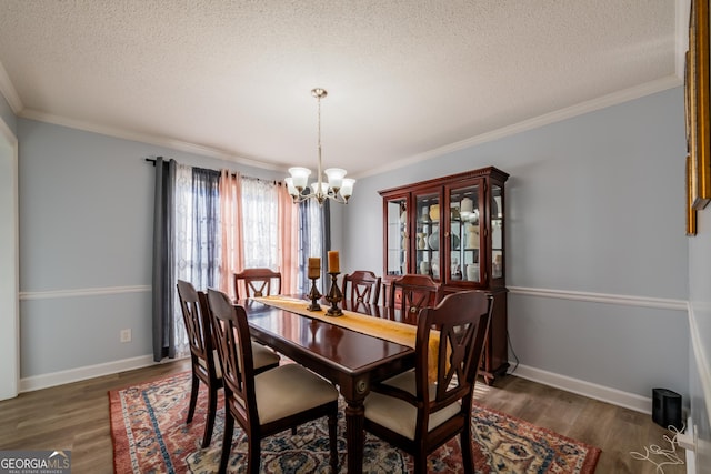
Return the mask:
<path id="1" fill-rule="evenodd" d="M 380 191 L 385 285 L 405 273 L 420 273 L 442 283 L 444 294 L 482 290 L 493 295 L 479 371 L 488 384 L 509 367 L 504 252 L 508 178 L 508 173 L 489 167 Z"/>

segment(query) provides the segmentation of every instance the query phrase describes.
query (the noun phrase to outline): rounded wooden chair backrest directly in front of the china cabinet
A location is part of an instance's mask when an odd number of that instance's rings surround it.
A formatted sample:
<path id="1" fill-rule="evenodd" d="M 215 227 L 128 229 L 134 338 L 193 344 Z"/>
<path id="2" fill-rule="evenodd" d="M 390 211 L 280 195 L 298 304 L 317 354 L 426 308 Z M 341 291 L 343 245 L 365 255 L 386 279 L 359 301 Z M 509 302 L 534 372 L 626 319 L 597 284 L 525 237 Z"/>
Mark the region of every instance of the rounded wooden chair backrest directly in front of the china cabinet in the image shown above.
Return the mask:
<path id="1" fill-rule="evenodd" d="M 442 285 L 428 275 L 405 274 L 390 284 L 388 306 L 399 307 L 404 320 L 412 320 L 420 310 L 435 306 L 442 299 Z M 412 316 L 412 317 L 410 317 Z"/>

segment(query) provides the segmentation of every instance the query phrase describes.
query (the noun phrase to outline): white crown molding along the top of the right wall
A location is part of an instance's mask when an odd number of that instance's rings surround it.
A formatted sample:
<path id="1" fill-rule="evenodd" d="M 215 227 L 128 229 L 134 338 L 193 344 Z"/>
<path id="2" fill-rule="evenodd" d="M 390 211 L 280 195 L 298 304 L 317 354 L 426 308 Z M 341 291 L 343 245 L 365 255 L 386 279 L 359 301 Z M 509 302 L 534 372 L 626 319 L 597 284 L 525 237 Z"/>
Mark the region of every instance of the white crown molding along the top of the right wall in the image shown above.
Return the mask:
<path id="1" fill-rule="evenodd" d="M 425 151 L 424 153 L 420 153 L 410 158 L 393 161 L 383 167 L 379 167 L 370 171 L 367 171 L 365 173 L 360 173 L 359 175 L 356 175 L 356 178 L 364 178 L 373 174 L 383 173 L 385 171 L 392 171 L 399 168 L 419 163 L 424 160 L 429 160 L 431 158 L 442 157 L 444 154 L 452 153 L 459 150 L 464 150 L 470 147 L 487 143 L 493 140 L 499 140 L 505 137 L 511 137 L 517 133 L 538 129 L 540 127 L 560 122 L 562 120 L 572 119 L 573 117 L 582 115 L 588 112 L 594 112 L 595 110 L 605 109 L 608 107 L 624 103 L 634 99 L 640 99 L 642 97 L 651 95 L 657 92 L 662 92 L 668 89 L 673 89 L 682 84 L 683 84 L 683 81 L 680 78 L 678 78 L 675 74 L 668 75 L 665 78 L 658 79 L 655 81 L 645 82 L 643 84 L 635 85 L 633 88 L 613 92 L 608 95 L 602 95 L 600 98 L 581 102 L 575 105 L 555 110 L 550 113 L 544 113 L 543 115 L 534 117 L 532 119 L 523 120 L 521 122 L 518 122 L 511 125 L 502 127 L 500 129 L 492 130 L 490 132 L 481 133 L 479 135 L 475 135 L 465 140 L 450 143 L 444 147 L 435 148 L 433 150 Z"/>

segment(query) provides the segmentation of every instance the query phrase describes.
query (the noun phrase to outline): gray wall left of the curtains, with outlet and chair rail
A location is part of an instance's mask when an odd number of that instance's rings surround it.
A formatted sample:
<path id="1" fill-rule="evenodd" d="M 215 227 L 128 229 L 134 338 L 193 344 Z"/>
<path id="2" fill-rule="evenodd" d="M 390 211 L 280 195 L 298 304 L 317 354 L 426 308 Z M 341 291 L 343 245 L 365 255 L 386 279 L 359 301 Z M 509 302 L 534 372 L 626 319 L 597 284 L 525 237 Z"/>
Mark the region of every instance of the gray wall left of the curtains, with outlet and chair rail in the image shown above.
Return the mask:
<path id="1" fill-rule="evenodd" d="M 18 120 L 18 140 L 26 387 L 62 371 L 71 380 L 150 362 L 153 168 L 146 157 L 281 178 L 32 120 Z M 132 330 L 131 343 L 119 342 L 122 329 Z"/>

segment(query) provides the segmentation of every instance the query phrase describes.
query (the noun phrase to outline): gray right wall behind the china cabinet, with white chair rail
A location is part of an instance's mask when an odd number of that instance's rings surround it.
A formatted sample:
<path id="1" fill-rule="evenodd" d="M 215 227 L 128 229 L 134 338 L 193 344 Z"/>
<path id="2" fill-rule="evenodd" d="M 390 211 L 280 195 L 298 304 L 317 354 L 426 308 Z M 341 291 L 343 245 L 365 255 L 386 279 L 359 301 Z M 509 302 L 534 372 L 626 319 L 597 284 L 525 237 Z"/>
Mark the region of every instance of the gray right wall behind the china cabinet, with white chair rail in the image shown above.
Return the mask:
<path id="1" fill-rule="evenodd" d="M 688 400 L 683 127 L 677 88 L 361 179 L 344 222 L 349 271 L 383 271 L 378 190 L 494 165 L 511 174 L 519 373 L 588 394 L 611 389 L 603 399 L 622 391 L 638 409 L 657 386 Z"/>

